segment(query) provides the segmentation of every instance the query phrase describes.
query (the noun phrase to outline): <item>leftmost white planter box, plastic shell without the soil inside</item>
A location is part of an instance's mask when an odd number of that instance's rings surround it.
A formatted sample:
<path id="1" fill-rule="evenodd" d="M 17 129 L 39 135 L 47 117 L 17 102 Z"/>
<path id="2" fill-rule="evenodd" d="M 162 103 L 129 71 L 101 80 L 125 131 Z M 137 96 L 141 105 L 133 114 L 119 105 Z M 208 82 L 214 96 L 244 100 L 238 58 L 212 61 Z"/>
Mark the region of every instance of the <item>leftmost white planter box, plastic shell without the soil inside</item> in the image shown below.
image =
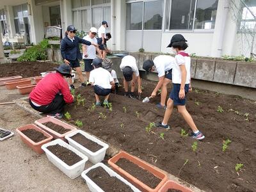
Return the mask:
<path id="1" fill-rule="evenodd" d="M 72 152 L 77 154 L 77 156 L 80 156 L 82 158 L 82 160 L 77 162 L 76 164 L 73 164 L 72 166 L 68 166 L 66 163 L 61 161 L 60 158 L 58 158 L 57 156 L 52 154 L 52 152 L 47 149 L 48 146 L 56 145 L 56 144 L 59 144 L 62 147 L 72 150 Z M 46 154 L 47 158 L 49 159 L 49 161 L 51 161 L 52 164 L 54 164 L 56 167 L 58 167 L 61 170 L 61 172 L 65 173 L 68 177 L 70 177 L 70 179 L 75 179 L 76 177 L 81 175 L 81 173 L 84 170 L 84 165 L 85 165 L 86 161 L 88 161 L 88 157 L 84 156 L 84 154 L 82 154 L 81 152 L 76 150 L 76 148 L 68 145 L 68 143 L 65 143 L 64 141 L 62 141 L 60 139 L 54 140 L 54 141 L 51 141 L 49 143 L 42 145 L 42 150 L 45 151 L 45 154 Z"/>

